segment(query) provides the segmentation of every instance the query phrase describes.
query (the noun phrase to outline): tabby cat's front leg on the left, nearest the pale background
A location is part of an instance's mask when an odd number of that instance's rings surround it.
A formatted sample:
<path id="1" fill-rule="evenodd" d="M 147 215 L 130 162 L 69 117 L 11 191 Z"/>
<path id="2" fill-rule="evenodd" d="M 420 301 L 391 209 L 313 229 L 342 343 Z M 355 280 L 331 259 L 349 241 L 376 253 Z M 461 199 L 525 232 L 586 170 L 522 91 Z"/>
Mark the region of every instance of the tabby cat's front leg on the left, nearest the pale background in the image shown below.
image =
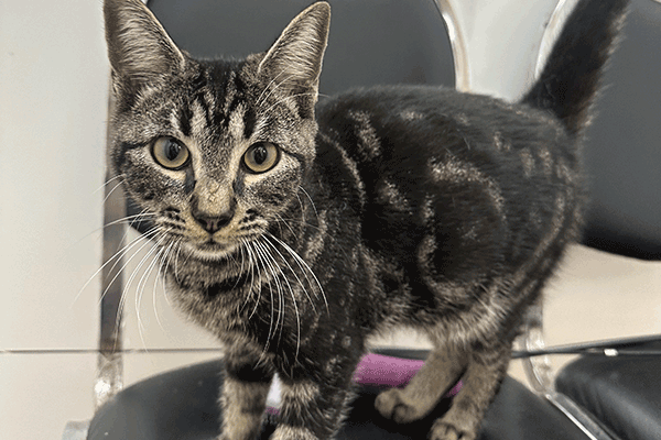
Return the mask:
<path id="1" fill-rule="evenodd" d="M 220 389 L 219 440 L 254 440 L 262 428 L 273 367 L 248 350 L 229 352 Z"/>

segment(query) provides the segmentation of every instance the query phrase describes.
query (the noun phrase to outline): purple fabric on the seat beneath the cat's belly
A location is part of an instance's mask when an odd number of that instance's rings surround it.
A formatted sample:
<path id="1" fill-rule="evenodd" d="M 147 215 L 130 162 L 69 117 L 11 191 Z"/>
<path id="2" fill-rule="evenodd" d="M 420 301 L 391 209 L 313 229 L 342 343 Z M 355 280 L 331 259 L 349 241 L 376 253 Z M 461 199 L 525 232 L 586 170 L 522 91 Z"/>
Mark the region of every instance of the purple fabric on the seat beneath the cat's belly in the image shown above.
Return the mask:
<path id="1" fill-rule="evenodd" d="M 354 373 L 354 381 L 362 385 L 403 388 L 423 364 L 424 361 L 420 360 L 370 353 L 362 356 L 358 363 Z M 445 397 L 455 396 L 459 389 L 462 389 L 462 381 L 457 382 Z M 267 413 L 275 415 L 278 408 L 268 407 Z"/>

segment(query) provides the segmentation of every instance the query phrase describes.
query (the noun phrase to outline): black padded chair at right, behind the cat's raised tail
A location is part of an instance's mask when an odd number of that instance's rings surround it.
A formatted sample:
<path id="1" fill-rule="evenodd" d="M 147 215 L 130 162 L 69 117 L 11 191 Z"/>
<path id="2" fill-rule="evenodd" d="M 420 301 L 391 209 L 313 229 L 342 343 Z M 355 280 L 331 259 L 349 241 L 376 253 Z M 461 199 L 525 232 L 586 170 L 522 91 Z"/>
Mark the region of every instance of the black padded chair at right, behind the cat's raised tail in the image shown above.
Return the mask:
<path id="1" fill-rule="evenodd" d="M 593 202 L 584 241 L 606 252 L 661 260 L 661 3 L 633 0 L 587 131 Z M 661 279 L 650 279 L 657 286 Z M 661 341 L 610 343 L 611 356 L 583 355 L 556 388 L 614 438 L 661 436 Z M 627 354 L 629 353 L 629 354 Z M 615 355 L 619 354 L 619 355 Z"/>

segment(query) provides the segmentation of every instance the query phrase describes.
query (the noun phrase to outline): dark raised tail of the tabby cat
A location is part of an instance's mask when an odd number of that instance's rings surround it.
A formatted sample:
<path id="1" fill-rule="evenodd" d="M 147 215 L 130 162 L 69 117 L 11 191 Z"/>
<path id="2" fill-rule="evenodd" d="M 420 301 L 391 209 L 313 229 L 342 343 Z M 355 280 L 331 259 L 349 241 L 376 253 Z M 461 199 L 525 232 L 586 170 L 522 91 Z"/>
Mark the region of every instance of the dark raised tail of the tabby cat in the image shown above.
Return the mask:
<path id="1" fill-rule="evenodd" d="M 540 78 L 522 102 L 557 117 L 574 135 L 589 122 L 602 70 L 629 0 L 579 0 L 555 41 Z"/>

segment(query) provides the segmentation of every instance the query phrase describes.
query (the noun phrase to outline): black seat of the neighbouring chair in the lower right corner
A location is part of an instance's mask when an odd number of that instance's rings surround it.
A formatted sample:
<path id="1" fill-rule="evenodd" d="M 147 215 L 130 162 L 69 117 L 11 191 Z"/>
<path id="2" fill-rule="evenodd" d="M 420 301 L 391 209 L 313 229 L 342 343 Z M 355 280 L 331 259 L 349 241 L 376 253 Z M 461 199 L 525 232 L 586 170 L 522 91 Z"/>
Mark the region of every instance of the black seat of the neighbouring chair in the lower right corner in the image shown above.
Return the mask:
<path id="1" fill-rule="evenodd" d="M 661 350 L 661 341 L 635 348 Z M 583 356 L 556 388 L 622 439 L 661 439 L 661 356 Z"/>

